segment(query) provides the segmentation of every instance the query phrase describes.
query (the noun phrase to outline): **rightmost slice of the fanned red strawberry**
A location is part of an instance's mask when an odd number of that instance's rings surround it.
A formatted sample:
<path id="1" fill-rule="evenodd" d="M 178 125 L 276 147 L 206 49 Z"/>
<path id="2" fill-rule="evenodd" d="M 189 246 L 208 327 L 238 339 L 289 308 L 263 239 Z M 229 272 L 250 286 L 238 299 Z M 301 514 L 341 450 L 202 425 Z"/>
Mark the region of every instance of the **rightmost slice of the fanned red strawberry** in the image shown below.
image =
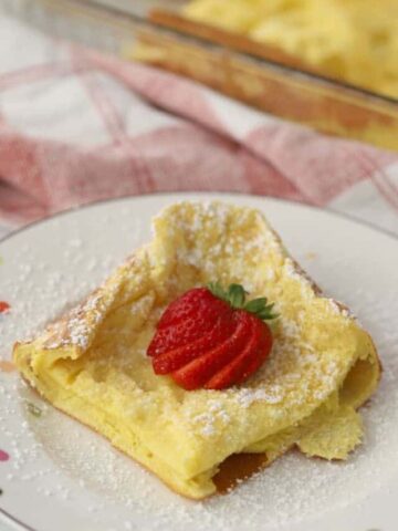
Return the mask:
<path id="1" fill-rule="evenodd" d="M 262 322 L 254 316 L 250 316 L 250 337 L 243 350 L 203 385 L 206 389 L 223 389 L 243 377 L 247 366 L 255 358 L 263 331 Z"/>

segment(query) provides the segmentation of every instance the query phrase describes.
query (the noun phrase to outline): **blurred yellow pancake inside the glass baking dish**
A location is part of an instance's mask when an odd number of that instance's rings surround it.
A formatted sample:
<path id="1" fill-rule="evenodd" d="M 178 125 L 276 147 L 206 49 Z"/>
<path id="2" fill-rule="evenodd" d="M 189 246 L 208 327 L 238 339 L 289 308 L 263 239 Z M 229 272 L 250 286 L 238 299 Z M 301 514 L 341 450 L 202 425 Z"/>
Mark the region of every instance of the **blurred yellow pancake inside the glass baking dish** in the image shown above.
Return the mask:
<path id="1" fill-rule="evenodd" d="M 331 77 L 398 97 L 396 0 L 192 0 L 184 14 L 282 50 Z"/>

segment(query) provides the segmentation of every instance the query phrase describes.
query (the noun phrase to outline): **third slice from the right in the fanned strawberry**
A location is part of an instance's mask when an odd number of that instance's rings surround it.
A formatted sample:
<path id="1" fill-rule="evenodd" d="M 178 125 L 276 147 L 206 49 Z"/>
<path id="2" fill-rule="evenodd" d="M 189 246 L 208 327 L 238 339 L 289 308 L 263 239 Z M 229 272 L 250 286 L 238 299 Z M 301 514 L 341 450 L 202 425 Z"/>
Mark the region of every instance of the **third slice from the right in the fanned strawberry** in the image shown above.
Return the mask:
<path id="1" fill-rule="evenodd" d="M 180 348 L 172 348 L 156 355 L 153 361 L 155 373 L 168 374 L 177 371 L 182 365 L 230 339 L 237 325 L 237 320 L 232 315 L 220 315 L 216 325 L 206 335 L 201 335 L 198 340 L 187 343 Z"/>

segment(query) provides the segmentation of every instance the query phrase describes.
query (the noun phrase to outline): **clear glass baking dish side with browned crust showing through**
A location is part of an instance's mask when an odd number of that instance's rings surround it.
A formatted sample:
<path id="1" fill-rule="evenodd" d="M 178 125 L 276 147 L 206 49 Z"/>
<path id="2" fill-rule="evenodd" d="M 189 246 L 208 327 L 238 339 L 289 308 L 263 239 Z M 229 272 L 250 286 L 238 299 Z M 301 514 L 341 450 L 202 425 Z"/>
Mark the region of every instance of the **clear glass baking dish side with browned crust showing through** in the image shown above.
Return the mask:
<path id="1" fill-rule="evenodd" d="M 2 0 L 56 34 L 195 79 L 318 131 L 398 150 L 398 100 L 304 70 L 283 53 L 179 14 L 181 0 Z"/>

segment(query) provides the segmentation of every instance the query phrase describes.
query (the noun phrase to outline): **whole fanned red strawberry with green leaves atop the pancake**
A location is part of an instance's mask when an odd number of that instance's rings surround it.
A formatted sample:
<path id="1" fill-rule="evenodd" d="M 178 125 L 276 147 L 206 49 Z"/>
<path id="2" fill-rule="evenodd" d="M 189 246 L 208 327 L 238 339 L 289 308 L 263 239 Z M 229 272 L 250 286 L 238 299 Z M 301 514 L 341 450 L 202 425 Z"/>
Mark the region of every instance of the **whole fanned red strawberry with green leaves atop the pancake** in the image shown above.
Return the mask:
<path id="1" fill-rule="evenodd" d="M 240 284 L 189 290 L 160 317 L 147 354 L 156 374 L 185 389 L 223 389 L 244 382 L 268 357 L 274 319 L 265 298 L 245 302 Z"/>

